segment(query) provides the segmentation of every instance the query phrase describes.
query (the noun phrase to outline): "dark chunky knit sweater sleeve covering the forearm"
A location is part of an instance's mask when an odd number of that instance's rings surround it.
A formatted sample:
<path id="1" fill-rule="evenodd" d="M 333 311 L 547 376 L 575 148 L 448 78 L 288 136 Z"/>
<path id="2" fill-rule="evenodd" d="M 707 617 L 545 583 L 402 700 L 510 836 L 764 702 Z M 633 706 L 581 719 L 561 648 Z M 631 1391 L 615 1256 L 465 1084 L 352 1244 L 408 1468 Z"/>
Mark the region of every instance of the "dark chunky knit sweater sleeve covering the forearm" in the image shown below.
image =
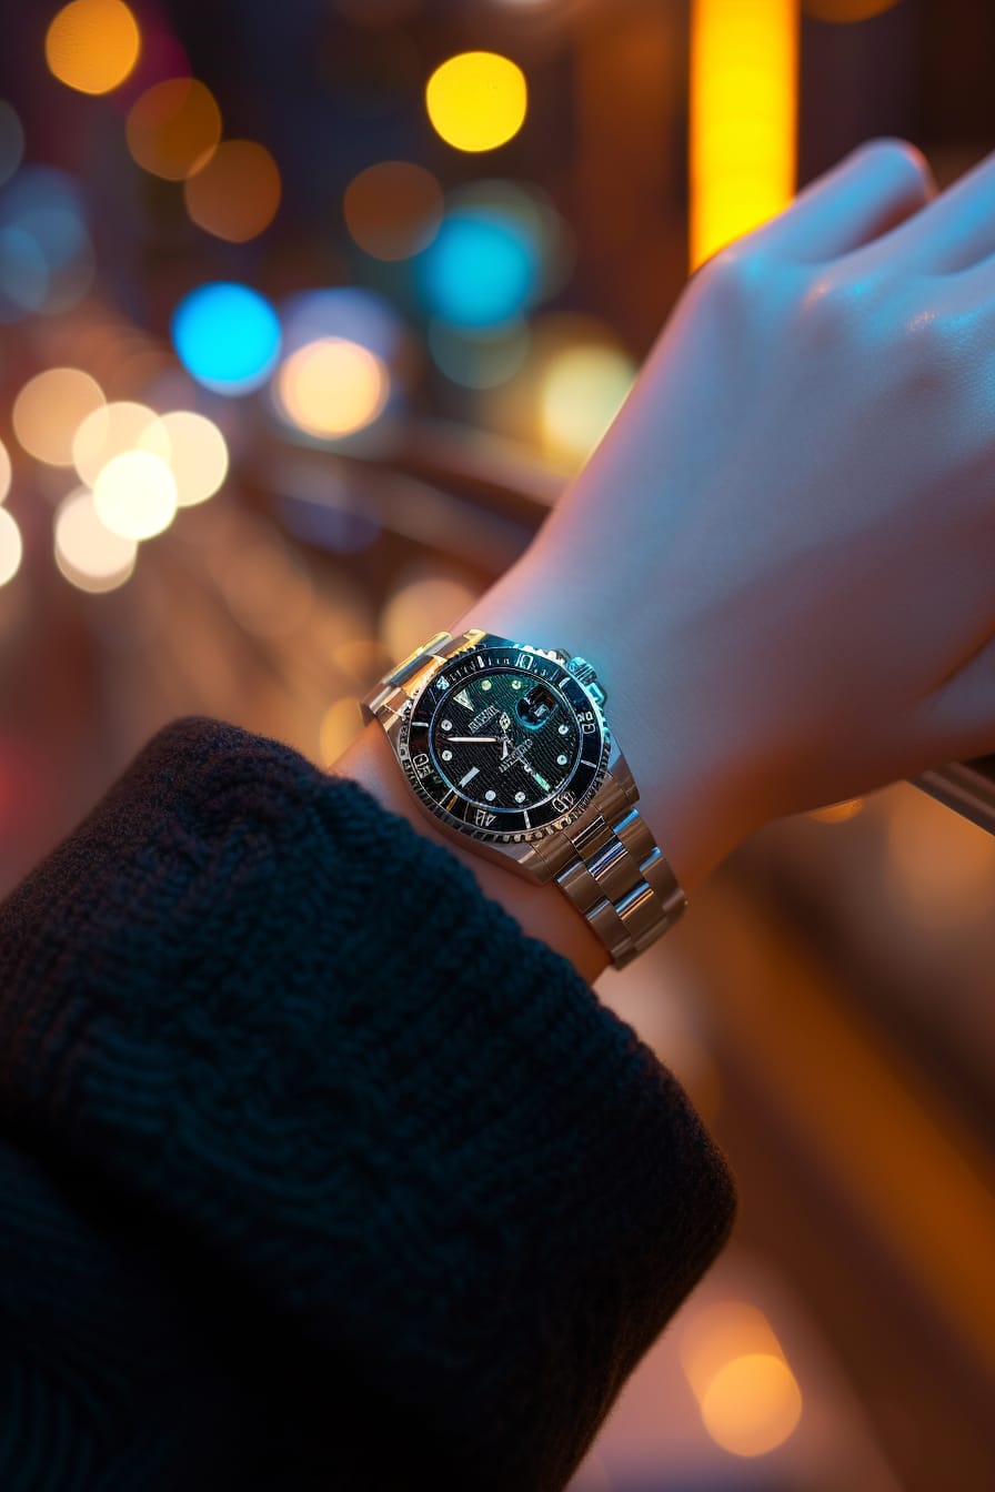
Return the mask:
<path id="1" fill-rule="evenodd" d="M 552 1492 L 732 1214 L 573 965 L 276 742 L 175 722 L 0 906 L 7 1492 Z"/>

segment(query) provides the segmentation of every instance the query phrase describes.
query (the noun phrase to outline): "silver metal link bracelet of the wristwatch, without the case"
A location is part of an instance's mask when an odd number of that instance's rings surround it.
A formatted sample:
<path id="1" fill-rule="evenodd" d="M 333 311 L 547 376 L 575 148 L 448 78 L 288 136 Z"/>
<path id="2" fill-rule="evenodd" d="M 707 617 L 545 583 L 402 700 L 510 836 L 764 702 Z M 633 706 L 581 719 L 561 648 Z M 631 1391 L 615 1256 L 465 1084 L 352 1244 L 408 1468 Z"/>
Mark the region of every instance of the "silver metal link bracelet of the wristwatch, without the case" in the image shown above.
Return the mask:
<path id="1" fill-rule="evenodd" d="M 392 740 L 404 703 L 421 686 L 425 670 L 476 646 L 485 636 L 476 630 L 458 639 L 437 633 L 367 694 L 361 701 L 364 719 L 379 719 Z M 567 652 L 549 653 L 570 659 Z M 594 801 L 576 824 L 509 852 L 509 859 L 518 859 L 531 879 L 556 880 L 604 943 L 615 968 L 625 968 L 662 937 L 688 904 L 656 840 L 633 807 L 637 798 L 628 762 L 616 752 Z M 479 841 L 471 843 L 482 849 Z"/>

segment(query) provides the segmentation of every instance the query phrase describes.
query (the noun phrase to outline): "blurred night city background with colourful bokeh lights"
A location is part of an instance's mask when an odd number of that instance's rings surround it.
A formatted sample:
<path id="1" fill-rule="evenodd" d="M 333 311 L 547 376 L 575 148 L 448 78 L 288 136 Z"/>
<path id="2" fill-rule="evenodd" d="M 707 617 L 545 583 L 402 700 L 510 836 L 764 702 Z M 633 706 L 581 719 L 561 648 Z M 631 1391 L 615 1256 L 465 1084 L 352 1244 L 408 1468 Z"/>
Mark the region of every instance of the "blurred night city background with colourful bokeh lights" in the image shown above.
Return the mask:
<path id="1" fill-rule="evenodd" d="M 986 0 L 3 16 L 0 894 L 178 715 L 333 764 L 697 264 L 870 136 L 995 145 Z M 995 839 L 897 785 L 598 982 L 743 1200 L 574 1492 L 995 1486 L 994 912 Z"/>

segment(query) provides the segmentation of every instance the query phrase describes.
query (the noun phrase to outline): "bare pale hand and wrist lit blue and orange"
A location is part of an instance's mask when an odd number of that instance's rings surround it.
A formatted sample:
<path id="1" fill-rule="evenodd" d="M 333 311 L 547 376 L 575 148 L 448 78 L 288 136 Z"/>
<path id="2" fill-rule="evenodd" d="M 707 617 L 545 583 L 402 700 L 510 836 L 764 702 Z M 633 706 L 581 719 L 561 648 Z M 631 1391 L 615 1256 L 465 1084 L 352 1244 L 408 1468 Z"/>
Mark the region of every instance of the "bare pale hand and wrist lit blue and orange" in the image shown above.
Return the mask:
<path id="1" fill-rule="evenodd" d="M 591 659 L 694 889 L 770 819 L 995 750 L 995 155 L 871 140 L 685 288 L 583 473 L 458 618 Z M 337 759 L 597 979 L 555 886 L 443 836 L 379 725 Z"/>

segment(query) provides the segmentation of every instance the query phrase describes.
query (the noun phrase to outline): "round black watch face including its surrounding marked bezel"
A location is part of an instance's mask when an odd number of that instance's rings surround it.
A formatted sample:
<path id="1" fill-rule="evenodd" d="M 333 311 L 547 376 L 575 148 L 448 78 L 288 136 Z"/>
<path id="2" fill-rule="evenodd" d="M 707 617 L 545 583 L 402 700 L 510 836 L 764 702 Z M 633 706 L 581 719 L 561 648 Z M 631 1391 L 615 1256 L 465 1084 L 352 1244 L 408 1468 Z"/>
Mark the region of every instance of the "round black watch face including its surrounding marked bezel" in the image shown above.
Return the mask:
<path id="1" fill-rule="evenodd" d="M 562 664 L 518 646 L 452 658 L 409 707 L 398 756 L 418 795 L 474 839 L 542 839 L 604 779 L 604 716 Z"/>

